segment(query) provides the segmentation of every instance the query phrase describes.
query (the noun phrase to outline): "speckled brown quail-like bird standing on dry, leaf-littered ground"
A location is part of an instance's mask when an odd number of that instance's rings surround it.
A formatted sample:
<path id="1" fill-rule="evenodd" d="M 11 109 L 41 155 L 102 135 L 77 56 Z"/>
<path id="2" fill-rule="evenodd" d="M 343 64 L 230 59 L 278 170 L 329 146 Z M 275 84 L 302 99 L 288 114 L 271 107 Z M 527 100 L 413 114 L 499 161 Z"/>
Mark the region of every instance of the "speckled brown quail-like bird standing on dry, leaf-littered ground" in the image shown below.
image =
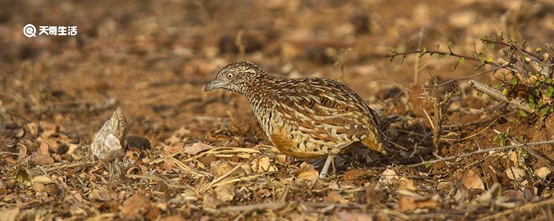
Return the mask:
<path id="1" fill-rule="evenodd" d="M 269 140 L 286 155 L 310 159 L 334 156 L 353 146 L 386 155 L 379 140 L 379 116 L 352 89 L 331 79 L 289 79 L 268 75 L 256 64 L 236 61 L 222 68 L 204 92 L 224 88 L 247 97 Z"/>

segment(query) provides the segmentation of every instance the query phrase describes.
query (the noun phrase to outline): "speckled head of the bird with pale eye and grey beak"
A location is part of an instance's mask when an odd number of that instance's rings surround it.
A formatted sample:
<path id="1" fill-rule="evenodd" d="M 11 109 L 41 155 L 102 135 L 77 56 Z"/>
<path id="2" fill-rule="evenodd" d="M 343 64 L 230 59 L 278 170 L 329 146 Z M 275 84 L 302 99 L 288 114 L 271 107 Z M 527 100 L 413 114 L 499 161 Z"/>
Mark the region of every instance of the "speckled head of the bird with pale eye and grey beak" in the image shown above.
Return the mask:
<path id="1" fill-rule="evenodd" d="M 224 88 L 244 95 L 249 84 L 267 75 L 262 68 L 249 61 L 236 61 L 222 68 L 215 79 L 206 85 L 204 92 Z"/>

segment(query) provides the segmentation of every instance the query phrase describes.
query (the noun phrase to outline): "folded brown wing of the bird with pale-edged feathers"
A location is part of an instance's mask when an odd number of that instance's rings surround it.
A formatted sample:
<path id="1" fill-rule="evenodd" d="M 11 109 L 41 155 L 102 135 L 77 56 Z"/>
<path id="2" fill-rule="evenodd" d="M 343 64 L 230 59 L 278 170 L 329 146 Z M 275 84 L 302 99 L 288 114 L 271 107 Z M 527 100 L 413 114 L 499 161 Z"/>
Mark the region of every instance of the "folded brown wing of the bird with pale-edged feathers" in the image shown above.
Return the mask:
<path id="1" fill-rule="evenodd" d="M 368 137 L 371 142 L 364 144 L 379 144 L 373 110 L 350 88 L 321 78 L 291 79 L 284 84 L 274 95 L 274 108 L 298 133 L 337 147 Z"/>

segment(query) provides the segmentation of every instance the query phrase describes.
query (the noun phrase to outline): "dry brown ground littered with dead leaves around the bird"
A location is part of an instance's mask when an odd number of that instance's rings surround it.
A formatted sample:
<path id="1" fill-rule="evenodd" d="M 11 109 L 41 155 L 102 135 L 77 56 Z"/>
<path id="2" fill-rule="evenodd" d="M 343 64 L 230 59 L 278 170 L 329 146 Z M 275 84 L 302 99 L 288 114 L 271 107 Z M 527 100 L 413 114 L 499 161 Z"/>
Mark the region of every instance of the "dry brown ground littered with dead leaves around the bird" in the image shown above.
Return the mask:
<path id="1" fill-rule="evenodd" d="M 431 75 L 443 82 L 476 70 L 465 61 L 452 71 L 455 58 L 384 57 L 388 48 L 451 41 L 456 52 L 496 59 L 500 49 L 486 50 L 479 39 L 500 32 L 542 46 L 554 39 L 551 1 L 2 1 L 0 8 L 0 220 L 554 219 L 551 144 L 409 166 L 438 158 L 435 108 L 422 86 Z M 78 35 L 28 38 L 27 23 L 78 26 Z M 317 179 L 313 162 L 271 146 L 246 99 L 202 92 L 237 60 L 281 77 L 343 81 L 397 116 L 388 130 L 393 155 L 355 152 L 339 160 L 336 175 Z M 458 85 L 440 156 L 553 140 L 553 119 L 519 117 L 476 96 L 467 81 Z M 118 106 L 129 123 L 127 153 L 90 162 L 92 137 Z"/>

